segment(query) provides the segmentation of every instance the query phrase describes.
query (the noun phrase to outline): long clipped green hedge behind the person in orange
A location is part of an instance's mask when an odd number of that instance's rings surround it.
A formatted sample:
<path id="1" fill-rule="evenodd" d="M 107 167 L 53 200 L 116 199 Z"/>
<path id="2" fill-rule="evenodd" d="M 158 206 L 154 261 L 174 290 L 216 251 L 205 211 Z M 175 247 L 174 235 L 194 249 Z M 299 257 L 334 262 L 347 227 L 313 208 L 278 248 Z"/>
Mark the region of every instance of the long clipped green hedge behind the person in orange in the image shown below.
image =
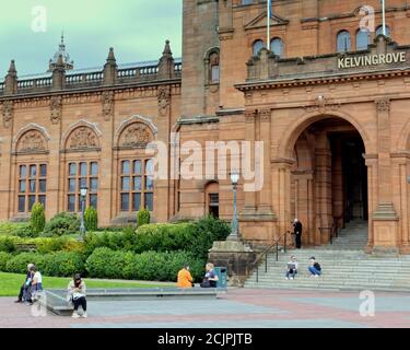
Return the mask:
<path id="1" fill-rule="evenodd" d="M 190 265 L 192 277 L 201 280 L 203 260 L 186 252 L 132 254 L 103 247 L 94 250 L 85 267 L 93 278 L 176 281 L 185 262 Z"/>

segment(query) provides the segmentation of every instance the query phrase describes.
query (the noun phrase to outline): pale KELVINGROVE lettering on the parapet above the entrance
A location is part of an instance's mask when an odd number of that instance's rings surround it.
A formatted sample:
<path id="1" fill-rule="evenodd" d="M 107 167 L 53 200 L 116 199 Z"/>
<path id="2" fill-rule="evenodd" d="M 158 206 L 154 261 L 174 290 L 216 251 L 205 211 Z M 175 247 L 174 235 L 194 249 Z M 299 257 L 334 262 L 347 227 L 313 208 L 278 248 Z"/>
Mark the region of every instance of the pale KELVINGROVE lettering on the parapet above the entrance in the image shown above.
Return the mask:
<path id="1" fill-rule="evenodd" d="M 375 54 L 358 57 L 341 57 L 338 59 L 339 69 L 393 63 L 406 63 L 406 52 Z"/>

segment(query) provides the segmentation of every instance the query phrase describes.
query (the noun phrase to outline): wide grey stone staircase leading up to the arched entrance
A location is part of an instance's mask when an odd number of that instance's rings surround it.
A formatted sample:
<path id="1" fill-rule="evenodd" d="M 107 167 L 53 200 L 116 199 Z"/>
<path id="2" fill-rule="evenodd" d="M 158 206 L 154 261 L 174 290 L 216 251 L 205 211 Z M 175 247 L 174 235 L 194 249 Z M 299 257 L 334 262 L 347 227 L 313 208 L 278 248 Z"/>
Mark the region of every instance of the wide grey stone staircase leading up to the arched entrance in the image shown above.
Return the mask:
<path id="1" fill-rule="evenodd" d="M 367 255 L 363 250 L 366 241 L 366 223 L 353 222 L 342 230 L 333 245 L 280 253 L 279 261 L 272 253 L 268 256 L 268 271 L 265 272 L 262 262 L 258 282 L 255 270 L 245 288 L 409 292 L 410 256 Z M 286 280 L 286 262 L 292 255 L 296 256 L 300 272 L 294 280 Z M 307 271 L 312 256 L 321 265 L 323 276 L 319 278 L 311 278 Z"/>

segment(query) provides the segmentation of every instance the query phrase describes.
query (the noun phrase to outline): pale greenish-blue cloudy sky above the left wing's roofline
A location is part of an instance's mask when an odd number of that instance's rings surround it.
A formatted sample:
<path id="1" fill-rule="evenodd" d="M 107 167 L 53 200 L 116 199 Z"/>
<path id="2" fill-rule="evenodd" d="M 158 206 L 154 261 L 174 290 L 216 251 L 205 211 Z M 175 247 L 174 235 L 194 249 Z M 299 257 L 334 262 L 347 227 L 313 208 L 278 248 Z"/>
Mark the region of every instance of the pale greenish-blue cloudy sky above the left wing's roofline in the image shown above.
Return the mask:
<path id="1" fill-rule="evenodd" d="M 156 60 L 165 40 L 181 56 L 181 0 L 1 1 L 0 77 L 15 59 L 19 77 L 43 73 L 65 33 L 74 68 Z"/>

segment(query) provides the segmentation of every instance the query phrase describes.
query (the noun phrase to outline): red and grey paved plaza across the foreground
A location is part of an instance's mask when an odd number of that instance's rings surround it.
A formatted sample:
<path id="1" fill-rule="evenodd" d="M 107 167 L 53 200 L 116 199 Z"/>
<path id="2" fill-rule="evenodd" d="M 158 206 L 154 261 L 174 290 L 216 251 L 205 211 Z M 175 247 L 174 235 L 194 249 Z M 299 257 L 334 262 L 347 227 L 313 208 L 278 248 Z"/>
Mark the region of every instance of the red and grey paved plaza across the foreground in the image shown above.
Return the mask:
<path id="1" fill-rule="evenodd" d="M 367 300 L 368 301 L 368 300 Z M 374 328 L 410 327 L 410 294 L 376 292 L 363 317 L 359 292 L 234 289 L 218 300 L 90 302 L 87 319 L 35 317 L 0 299 L 0 327 L 17 328 Z M 361 307 L 362 305 L 362 307 Z"/>

